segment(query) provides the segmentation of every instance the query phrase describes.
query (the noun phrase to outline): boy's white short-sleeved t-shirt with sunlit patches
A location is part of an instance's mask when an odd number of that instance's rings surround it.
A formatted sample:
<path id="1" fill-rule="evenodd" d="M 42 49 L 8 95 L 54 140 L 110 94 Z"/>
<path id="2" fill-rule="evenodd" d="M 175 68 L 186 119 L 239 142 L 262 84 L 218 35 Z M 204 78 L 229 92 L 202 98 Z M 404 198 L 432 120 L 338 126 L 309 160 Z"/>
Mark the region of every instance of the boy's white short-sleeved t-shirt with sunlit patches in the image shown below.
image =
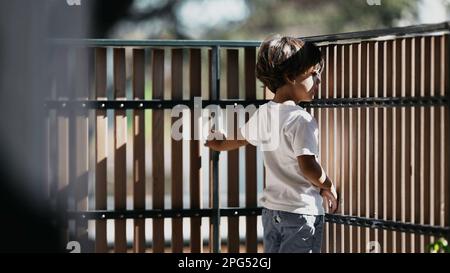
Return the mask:
<path id="1" fill-rule="evenodd" d="M 320 189 L 303 175 L 297 157 L 319 155 L 314 117 L 294 101 L 261 105 L 240 129 L 263 153 L 266 188 L 261 205 L 273 210 L 323 215 Z"/>

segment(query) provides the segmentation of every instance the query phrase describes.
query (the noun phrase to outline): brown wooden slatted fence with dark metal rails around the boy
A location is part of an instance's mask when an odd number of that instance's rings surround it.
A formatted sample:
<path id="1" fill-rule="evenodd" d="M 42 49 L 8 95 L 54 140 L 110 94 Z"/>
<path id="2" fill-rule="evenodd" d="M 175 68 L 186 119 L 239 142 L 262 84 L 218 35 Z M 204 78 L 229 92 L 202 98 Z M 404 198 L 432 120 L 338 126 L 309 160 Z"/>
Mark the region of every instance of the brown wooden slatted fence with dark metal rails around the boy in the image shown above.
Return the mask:
<path id="1" fill-rule="evenodd" d="M 305 108 L 347 219 L 326 224 L 323 251 L 426 252 L 436 234 L 417 226 L 445 228 L 450 218 L 448 24 L 307 39 L 326 65 Z M 47 102 L 47 171 L 65 241 L 83 252 L 261 252 L 260 152 L 219 155 L 170 137 L 178 103 L 270 99 L 255 79 L 259 43 L 56 44 L 55 66 L 67 73 Z M 183 130 L 193 136 L 193 126 L 192 115 Z"/>

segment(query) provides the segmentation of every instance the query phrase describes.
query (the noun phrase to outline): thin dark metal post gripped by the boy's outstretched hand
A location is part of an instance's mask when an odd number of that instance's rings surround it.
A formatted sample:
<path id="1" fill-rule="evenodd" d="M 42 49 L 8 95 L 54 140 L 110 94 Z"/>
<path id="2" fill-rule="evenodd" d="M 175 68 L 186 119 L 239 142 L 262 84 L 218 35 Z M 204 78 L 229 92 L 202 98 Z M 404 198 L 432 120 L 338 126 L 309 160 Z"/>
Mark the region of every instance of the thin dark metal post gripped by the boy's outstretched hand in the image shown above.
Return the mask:
<path id="1" fill-rule="evenodd" d="M 219 46 L 212 47 L 211 51 L 211 98 L 217 100 L 220 90 L 220 55 Z M 212 151 L 210 154 L 212 161 L 212 191 L 213 191 L 213 215 L 211 217 L 213 225 L 213 253 L 220 253 L 220 208 L 219 208 L 219 152 Z"/>

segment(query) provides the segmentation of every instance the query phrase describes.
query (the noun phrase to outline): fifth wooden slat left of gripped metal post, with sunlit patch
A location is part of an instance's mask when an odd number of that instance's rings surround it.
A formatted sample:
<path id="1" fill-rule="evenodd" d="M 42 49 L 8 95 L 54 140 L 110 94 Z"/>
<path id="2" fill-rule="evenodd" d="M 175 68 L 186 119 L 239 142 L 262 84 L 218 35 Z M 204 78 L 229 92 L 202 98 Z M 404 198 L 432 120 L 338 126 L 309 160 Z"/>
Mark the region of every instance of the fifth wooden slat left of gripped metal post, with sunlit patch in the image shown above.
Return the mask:
<path id="1" fill-rule="evenodd" d="M 125 97 L 125 49 L 114 48 L 114 99 Z M 126 209 L 126 135 L 127 119 L 125 110 L 114 111 L 114 209 Z M 127 251 L 126 220 L 114 221 L 114 251 Z"/>

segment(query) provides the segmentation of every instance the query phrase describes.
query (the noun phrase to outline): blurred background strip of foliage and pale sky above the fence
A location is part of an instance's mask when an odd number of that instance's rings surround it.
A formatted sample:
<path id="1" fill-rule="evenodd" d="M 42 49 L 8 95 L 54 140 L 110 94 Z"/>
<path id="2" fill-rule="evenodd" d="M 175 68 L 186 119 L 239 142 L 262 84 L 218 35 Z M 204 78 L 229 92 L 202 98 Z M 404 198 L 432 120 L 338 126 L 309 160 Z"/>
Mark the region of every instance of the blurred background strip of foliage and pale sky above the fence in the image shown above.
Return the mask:
<path id="1" fill-rule="evenodd" d="M 392 27 L 417 18 L 419 0 L 380 1 L 97 0 L 92 36 L 257 40 L 269 33 L 311 36 Z"/>

